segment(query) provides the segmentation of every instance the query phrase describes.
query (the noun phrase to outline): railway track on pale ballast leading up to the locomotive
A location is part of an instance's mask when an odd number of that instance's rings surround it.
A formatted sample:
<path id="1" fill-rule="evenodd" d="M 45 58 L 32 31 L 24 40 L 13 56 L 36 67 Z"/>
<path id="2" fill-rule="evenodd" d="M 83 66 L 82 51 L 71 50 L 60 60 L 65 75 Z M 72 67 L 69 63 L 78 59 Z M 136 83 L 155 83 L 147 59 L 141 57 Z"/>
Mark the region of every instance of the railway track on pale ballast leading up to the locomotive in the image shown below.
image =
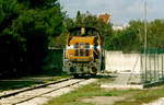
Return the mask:
<path id="1" fill-rule="evenodd" d="M 69 92 L 67 88 L 90 79 L 68 78 L 0 96 L 0 105 L 42 105 L 50 98 Z M 59 92 L 61 91 L 61 92 Z"/>

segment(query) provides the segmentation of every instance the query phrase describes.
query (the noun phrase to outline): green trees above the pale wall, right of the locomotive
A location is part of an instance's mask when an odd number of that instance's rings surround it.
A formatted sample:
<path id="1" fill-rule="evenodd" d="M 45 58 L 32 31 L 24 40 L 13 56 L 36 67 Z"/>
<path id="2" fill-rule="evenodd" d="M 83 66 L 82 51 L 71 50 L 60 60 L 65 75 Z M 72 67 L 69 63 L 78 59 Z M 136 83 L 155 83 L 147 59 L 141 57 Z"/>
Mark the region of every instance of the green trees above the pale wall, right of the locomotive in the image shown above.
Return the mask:
<path id="1" fill-rule="evenodd" d="M 148 22 L 148 47 L 163 48 L 164 21 L 154 20 Z M 110 37 L 106 38 L 107 50 L 122 50 L 124 52 L 140 51 L 144 46 L 144 23 L 141 21 L 130 21 L 129 26 L 121 31 L 113 31 Z"/>

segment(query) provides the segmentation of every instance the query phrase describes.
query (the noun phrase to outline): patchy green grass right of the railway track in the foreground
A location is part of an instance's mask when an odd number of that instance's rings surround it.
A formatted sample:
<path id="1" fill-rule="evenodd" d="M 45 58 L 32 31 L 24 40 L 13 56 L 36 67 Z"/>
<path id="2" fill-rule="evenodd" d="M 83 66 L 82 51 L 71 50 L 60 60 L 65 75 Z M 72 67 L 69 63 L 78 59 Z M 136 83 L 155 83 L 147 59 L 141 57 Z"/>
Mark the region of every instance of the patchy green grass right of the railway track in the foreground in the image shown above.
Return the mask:
<path id="1" fill-rule="evenodd" d="M 164 86 L 149 90 L 105 90 L 99 84 L 108 79 L 101 79 L 97 83 L 92 83 L 80 88 L 71 93 L 54 98 L 45 105 L 94 105 L 83 103 L 81 100 L 92 96 L 126 96 L 125 101 L 116 102 L 115 105 L 141 105 L 164 96 Z"/>

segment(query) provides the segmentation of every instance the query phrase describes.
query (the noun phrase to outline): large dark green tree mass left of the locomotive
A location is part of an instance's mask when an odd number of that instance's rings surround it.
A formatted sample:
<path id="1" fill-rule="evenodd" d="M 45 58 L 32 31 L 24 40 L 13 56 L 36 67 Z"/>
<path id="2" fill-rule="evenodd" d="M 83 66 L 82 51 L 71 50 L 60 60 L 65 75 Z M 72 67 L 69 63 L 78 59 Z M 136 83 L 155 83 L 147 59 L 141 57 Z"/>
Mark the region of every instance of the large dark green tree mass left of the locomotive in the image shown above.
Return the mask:
<path id="1" fill-rule="evenodd" d="M 1 65 L 9 65 L 2 74 L 40 71 L 48 44 L 63 30 L 63 18 L 58 0 L 0 0 Z"/>

